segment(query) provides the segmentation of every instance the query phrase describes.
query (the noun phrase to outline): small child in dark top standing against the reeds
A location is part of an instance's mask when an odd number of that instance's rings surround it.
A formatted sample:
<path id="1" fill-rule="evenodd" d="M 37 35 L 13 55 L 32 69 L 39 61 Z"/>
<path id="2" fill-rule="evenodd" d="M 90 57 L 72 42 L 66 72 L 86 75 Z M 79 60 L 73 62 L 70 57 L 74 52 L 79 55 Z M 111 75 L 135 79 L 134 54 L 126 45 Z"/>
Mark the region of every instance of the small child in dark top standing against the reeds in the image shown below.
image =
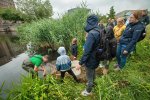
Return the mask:
<path id="1" fill-rule="evenodd" d="M 72 55 L 72 60 L 76 60 L 77 59 L 77 55 L 78 55 L 78 46 L 77 46 L 77 39 L 73 38 L 72 40 L 72 45 L 71 45 L 71 55 Z"/>

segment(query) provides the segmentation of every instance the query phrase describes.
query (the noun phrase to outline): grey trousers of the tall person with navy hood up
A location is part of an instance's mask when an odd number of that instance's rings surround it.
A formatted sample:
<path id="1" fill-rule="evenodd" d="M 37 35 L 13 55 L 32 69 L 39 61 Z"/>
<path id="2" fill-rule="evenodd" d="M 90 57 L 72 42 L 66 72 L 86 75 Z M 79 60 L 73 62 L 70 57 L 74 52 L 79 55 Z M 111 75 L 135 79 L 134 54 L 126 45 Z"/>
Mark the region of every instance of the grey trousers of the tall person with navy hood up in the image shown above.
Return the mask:
<path id="1" fill-rule="evenodd" d="M 91 69 L 91 68 L 86 67 L 86 77 L 87 77 L 87 81 L 88 81 L 86 91 L 91 92 L 92 87 L 94 86 L 95 69 Z"/>

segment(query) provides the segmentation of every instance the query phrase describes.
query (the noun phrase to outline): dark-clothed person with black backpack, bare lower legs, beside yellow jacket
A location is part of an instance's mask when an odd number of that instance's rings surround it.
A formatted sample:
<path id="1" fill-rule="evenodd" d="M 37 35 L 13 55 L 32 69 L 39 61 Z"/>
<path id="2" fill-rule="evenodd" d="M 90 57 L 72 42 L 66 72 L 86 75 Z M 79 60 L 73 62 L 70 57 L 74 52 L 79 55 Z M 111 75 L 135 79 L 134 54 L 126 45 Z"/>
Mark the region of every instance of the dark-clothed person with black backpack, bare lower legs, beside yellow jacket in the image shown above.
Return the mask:
<path id="1" fill-rule="evenodd" d="M 100 67 L 104 75 L 108 73 L 108 68 L 112 58 L 116 56 L 117 40 L 114 37 L 113 24 L 109 24 L 105 30 L 100 30 L 103 52 L 98 55 L 100 59 Z M 100 44 L 101 45 L 101 44 Z"/>

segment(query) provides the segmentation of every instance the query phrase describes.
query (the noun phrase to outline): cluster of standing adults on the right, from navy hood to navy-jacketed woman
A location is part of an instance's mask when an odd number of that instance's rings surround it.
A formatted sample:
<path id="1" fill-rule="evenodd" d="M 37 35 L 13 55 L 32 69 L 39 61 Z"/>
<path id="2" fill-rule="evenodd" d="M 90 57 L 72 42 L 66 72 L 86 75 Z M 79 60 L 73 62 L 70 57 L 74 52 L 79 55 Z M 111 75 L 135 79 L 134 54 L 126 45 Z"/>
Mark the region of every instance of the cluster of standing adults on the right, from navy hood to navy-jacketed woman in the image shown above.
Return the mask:
<path id="1" fill-rule="evenodd" d="M 116 52 L 113 52 L 116 54 L 117 59 L 115 70 L 122 70 L 126 65 L 128 55 L 135 50 L 137 42 L 144 39 L 146 25 L 149 24 L 148 18 L 149 17 L 145 15 L 145 11 L 134 11 L 129 16 L 129 23 L 127 25 L 125 24 L 125 19 L 121 17 L 116 20 L 116 25 L 114 20 L 109 20 L 106 28 L 102 23 L 98 23 L 97 16 L 91 15 L 87 18 L 85 31 L 88 35 L 84 45 L 84 53 L 76 67 L 77 69 L 80 69 L 81 66 L 86 66 L 85 69 L 88 82 L 86 89 L 82 91 L 82 95 L 90 95 L 94 85 L 95 69 L 100 64 L 100 61 L 96 58 L 95 51 L 99 46 L 100 39 L 103 38 L 101 38 L 103 35 L 101 35 L 100 32 L 105 31 L 106 37 L 108 37 L 110 43 L 114 40 L 113 37 L 115 37 L 117 44 Z M 98 30 L 100 30 L 100 32 Z M 111 49 L 111 53 L 112 51 L 113 50 Z M 109 57 L 110 59 L 103 59 L 104 74 L 108 72 L 109 62 L 114 56 L 112 55 Z"/>

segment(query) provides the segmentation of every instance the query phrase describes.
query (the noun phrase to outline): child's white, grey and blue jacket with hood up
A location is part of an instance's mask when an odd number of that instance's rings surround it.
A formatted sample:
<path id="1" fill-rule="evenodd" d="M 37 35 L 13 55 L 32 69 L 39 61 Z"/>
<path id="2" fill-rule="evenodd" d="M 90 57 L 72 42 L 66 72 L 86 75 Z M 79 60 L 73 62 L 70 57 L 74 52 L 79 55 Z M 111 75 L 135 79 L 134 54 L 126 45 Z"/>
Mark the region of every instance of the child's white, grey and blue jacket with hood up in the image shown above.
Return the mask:
<path id="1" fill-rule="evenodd" d="M 56 61 L 56 68 L 58 71 L 67 71 L 71 68 L 71 60 L 69 56 L 66 55 L 66 50 L 64 47 L 59 47 L 57 51 L 60 56 L 57 58 Z"/>

